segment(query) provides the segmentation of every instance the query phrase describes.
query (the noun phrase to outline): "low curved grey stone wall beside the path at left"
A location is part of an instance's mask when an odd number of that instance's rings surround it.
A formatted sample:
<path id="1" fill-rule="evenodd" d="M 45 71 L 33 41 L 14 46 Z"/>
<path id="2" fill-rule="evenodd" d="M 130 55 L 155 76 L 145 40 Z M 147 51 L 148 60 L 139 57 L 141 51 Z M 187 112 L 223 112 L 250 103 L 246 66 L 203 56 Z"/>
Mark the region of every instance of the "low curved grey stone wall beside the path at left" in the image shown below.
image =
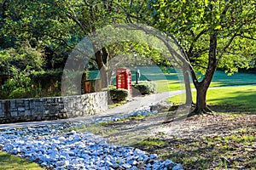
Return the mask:
<path id="1" fill-rule="evenodd" d="M 107 92 L 39 99 L 0 100 L 0 123 L 56 120 L 108 109 Z"/>

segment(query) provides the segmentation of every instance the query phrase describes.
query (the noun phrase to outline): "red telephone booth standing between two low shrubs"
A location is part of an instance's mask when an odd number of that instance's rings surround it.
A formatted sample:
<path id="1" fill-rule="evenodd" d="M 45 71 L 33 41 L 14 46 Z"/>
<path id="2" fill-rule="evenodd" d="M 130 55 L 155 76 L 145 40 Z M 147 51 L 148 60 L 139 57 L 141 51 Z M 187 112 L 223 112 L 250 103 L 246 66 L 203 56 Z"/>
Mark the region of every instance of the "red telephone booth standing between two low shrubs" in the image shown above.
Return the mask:
<path id="1" fill-rule="evenodd" d="M 131 95 L 131 70 L 129 68 L 119 68 L 116 70 L 116 88 L 125 88 Z"/>

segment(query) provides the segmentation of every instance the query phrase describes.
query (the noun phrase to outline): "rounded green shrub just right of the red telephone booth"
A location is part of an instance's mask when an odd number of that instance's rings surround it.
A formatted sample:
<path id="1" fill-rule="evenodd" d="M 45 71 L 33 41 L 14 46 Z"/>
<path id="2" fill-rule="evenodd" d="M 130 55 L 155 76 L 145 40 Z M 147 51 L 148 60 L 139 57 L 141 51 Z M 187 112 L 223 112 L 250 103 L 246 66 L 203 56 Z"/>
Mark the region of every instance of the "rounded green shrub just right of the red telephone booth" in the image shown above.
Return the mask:
<path id="1" fill-rule="evenodd" d="M 132 88 L 137 89 L 141 94 L 154 94 L 156 92 L 156 84 L 154 82 L 132 83 Z"/>

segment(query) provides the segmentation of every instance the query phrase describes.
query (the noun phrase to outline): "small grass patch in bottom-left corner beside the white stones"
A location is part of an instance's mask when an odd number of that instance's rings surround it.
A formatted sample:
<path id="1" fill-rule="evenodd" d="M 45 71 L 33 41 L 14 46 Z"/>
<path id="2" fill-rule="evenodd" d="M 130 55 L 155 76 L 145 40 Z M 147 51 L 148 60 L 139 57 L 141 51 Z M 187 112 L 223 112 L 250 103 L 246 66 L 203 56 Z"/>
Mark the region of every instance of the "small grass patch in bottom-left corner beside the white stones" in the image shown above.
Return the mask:
<path id="1" fill-rule="evenodd" d="M 11 154 L 0 151 L 0 169 L 1 170 L 40 170 L 43 168 L 40 167 L 37 163 L 32 161 L 26 161 L 18 156 L 13 156 Z"/>

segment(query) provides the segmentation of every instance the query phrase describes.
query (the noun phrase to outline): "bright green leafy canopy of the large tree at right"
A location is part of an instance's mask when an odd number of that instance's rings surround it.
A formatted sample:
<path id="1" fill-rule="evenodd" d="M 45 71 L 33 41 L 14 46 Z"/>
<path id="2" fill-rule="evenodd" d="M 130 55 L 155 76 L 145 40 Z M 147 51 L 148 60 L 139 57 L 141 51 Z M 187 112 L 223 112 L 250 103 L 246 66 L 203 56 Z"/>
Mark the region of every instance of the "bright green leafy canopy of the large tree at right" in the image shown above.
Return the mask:
<path id="1" fill-rule="evenodd" d="M 245 32 L 247 37 L 255 39 L 255 6 L 253 1 L 212 1 L 212 0 L 195 0 L 177 1 L 177 0 L 159 0 L 156 3 L 148 3 L 150 11 L 157 11 L 153 15 L 152 26 L 161 31 L 168 31 L 174 34 L 181 42 L 183 48 L 189 54 L 192 65 L 195 65 L 196 71 L 204 72 L 203 68 L 208 64 L 208 41 L 212 31 L 218 34 L 218 52 L 224 50 L 224 59 L 220 67 L 229 68 L 229 71 L 236 71 L 236 67 L 247 67 L 253 54 L 251 45 L 250 51 L 233 48 L 232 53 L 227 54 L 225 46 L 228 45 L 230 37 L 234 34 Z M 253 15 L 254 14 L 254 15 Z M 254 21 L 253 21 L 254 20 Z M 254 28 L 254 29 L 253 29 Z M 254 32 L 252 32 L 254 31 Z M 251 44 L 255 43 L 250 40 Z M 247 46 L 246 43 L 240 43 L 238 40 L 230 43 L 230 47 Z M 230 48 L 228 48 L 230 49 Z M 242 52 L 242 53 L 241 53 Z M 240 59 L 236 59 L 236 54 Z M 228 60 L 236 60 L 236 64 L 231 64 Z"/>

